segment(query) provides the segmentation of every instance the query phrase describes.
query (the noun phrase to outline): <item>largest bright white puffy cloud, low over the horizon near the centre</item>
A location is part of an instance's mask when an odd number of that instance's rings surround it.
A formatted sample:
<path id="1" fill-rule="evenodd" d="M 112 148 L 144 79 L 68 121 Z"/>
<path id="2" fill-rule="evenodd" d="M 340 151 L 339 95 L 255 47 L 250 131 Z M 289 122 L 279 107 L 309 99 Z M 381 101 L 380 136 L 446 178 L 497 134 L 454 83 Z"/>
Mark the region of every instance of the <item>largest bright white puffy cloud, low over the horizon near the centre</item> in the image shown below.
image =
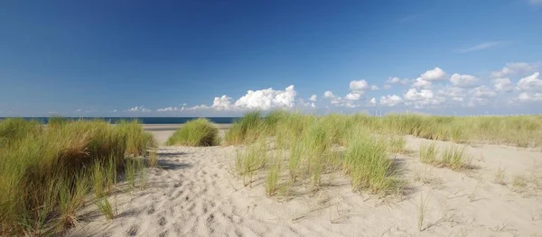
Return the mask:
<path id="1" fill-rule="evenodd" d="M 296 92 L 294 85 L 285 90 L 267 88 L 263 90 L 249 90 L 247 95 L 242 96 L 235 102 L 235 106 L 241 109 L 269 110 L 275 107 L 293 107 Z"/>

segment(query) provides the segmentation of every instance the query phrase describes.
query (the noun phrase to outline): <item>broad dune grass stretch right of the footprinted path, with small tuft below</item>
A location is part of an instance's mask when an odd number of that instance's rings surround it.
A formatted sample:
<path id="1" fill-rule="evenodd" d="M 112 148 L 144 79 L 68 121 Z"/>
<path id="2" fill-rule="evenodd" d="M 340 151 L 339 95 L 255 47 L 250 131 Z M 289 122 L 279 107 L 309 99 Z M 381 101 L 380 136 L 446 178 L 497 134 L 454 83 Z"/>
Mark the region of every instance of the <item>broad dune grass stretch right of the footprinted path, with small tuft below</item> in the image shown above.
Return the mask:
<path id="1" fill-rule="evenodd" d="M 542 142 L 542 117 L 452 117 L 420 114 L 311 114 L 273 111 L 262 117 L 251 112 L 234 123 L 226 143 L 247 145 L 238 152 L 236 169 L 251 184 L 266 171 L 266 194 L 281 184 L 318 190 L 322 178 L 337 170 L 350 178 L 356 191 L 380 196 L 400 193 L 403 182 L 390 157 L 406 153 L 405 135 L 452 142 L 489 142 L 518 146 Z M 276 153 L 284 159 L 271 159 Z M 471 169 L 470 156 L 460 146 L 439 152 L 435 144 L 420 147 L 420 161 L 437 167 Z M 278 162 L 278 163 L 277 163 Z M 258 164 L 258 165 L 255 165 Z M 284 180 L 284 179 L 289 180 Z"/>

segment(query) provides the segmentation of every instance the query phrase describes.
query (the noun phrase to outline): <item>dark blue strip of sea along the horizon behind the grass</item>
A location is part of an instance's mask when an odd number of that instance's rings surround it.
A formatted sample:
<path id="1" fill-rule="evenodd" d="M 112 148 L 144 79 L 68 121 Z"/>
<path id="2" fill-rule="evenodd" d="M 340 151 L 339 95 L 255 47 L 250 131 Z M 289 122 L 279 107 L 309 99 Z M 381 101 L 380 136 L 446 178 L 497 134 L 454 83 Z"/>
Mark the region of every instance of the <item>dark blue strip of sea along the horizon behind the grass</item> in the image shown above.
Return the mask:
<path id="1" fill-rule="evenodd" d="M 186 123 L 197 117 L 62 117 L 64 119 L 83 119 L 83 120 L 93 120 L 93 119 L 103 119 L 109 123 L 117 123 L 121 120 L 137 120 L 139 123 L 144 124 L 173 124 L 173 123 Z M 0 117 L 0 120 L 5 119 L 5 117 Z M 40 123 L 47 123 L 49 117 L 23 117 L 26 120 L 37 120 Z M 212 123 L 233 123 L 238 117 L 209 117 Z"/>

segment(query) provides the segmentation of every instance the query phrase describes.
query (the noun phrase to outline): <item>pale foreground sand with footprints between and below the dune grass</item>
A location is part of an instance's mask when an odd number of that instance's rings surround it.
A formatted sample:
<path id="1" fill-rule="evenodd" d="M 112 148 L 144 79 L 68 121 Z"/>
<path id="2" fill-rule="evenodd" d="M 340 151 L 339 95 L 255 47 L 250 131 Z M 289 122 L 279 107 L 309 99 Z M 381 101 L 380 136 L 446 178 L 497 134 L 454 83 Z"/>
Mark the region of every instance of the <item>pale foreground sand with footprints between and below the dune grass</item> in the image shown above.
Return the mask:
<path id="1" fill-rule="evenodd" d="M 165 141 L 172 132 L 154 134 Z M 512 187 L 515 175 L 541 174 L 539 149 L 467 145 L 479 169 L 457 172 L 419 162 L 419 145 L 430 142 L 441 150 L 452 144 L 407 137 L 413 152 L 395 158 L 406 195 L 384 200 L 353 193 L 341 175 L 316 193 L 267 197 L 262 179 L 244 187 L 230 173 L 235 147 L 161 147 L 160 168 L 149 169 L 147 187 L 110 198 L 117 202 L 115 220 L 88 205 L 68 235 L 542 236 L 542 194 Z M 493 181 L 498 169 L 505 169 L 506 186 Z M 422 232 L 421 196 L 428 200 Z"/>

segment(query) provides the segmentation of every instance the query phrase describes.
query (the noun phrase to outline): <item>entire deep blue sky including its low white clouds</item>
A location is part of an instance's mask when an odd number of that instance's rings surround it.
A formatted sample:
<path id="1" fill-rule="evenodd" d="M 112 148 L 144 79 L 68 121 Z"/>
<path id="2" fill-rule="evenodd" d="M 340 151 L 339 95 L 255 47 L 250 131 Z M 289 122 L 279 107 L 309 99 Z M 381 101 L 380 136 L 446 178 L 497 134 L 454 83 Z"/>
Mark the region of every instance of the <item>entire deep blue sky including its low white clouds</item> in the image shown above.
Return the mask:
<path id="1" fill-rule="evenodd" d="M 540 15 L 540 0 L 2 1 L 0 116 L 539 114 Z"/>

